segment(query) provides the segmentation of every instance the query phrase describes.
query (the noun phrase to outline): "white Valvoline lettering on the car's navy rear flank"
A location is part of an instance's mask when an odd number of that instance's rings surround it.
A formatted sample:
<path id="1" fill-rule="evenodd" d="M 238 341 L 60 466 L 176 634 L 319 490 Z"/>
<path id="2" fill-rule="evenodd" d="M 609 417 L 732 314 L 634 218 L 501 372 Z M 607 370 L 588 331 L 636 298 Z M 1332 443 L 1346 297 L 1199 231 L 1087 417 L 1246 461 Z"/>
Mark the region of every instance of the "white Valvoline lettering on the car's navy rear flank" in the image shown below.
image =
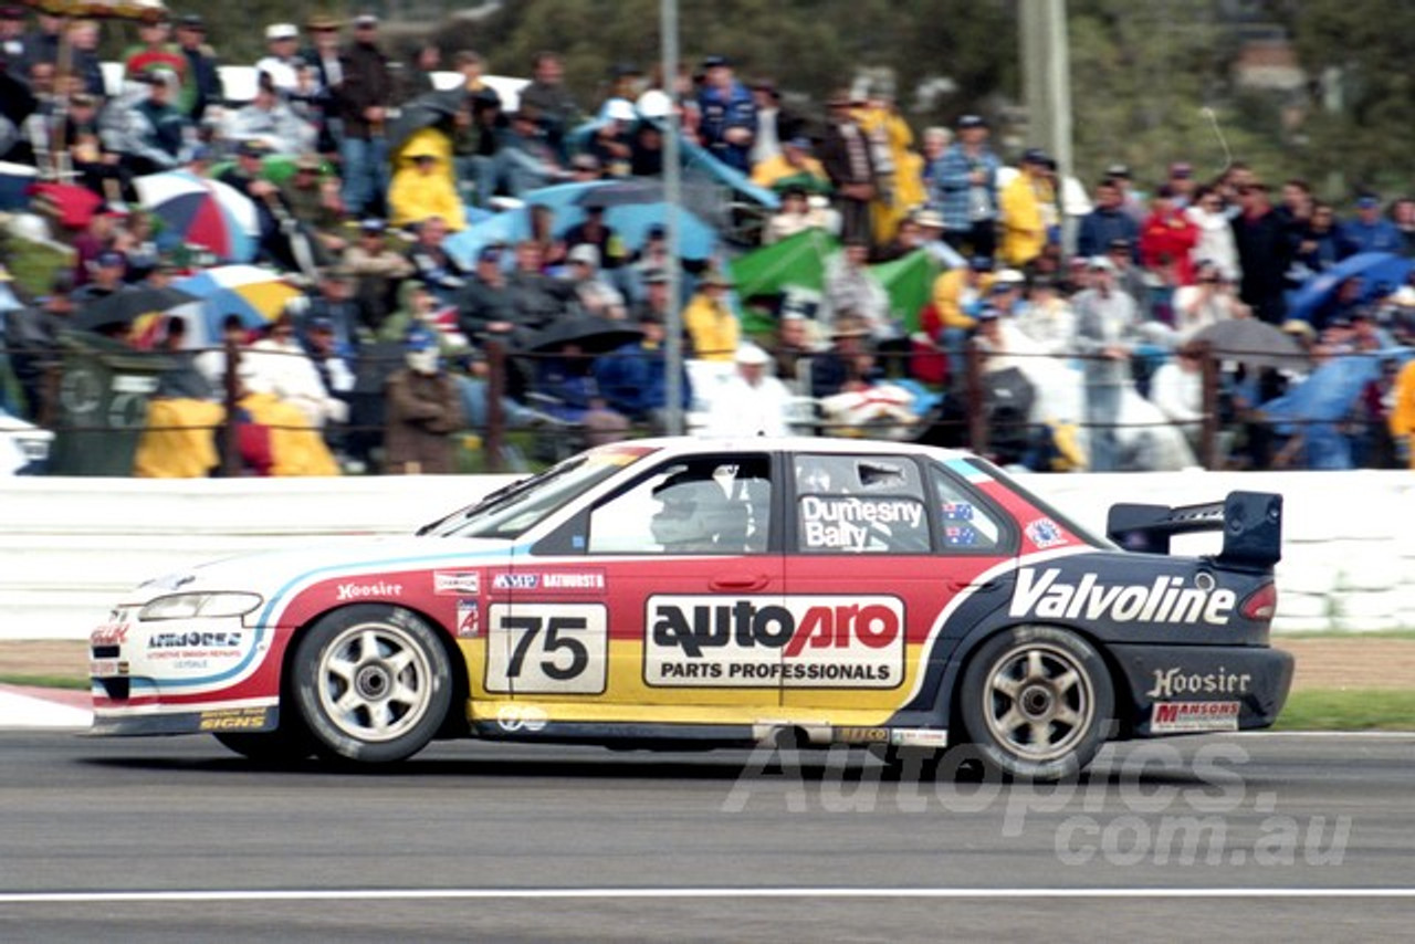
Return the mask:
<path id="1" fill-rule="evenodd" d="M 1075 583 L 1060 568 L 1023 568 L 1012 592 L 1007 616 L 1051 620 L 1111 620 L 1114 623 L 1228 623 L 1238 596 L 1232 590 L 1186 587 L 1183 577 L 1155 577 L 1153 583 L 1101 583 L 1087 573 Z"/>

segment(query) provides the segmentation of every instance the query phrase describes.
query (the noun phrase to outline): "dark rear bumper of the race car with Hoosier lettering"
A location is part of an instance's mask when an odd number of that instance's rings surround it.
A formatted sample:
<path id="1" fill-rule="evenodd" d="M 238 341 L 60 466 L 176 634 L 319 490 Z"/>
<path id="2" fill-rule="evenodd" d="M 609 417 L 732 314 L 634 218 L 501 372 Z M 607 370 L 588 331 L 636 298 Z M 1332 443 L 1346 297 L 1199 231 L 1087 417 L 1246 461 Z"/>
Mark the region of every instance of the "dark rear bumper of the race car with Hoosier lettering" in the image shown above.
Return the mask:
<path id="1" fill-rule="evenodd" d="M 1135 737 L 1271 727 L 1292 688 L 1293 658 L 1266 647 L 1112 645 L 1116 715 Z M 1129 712 L 1125 706 L 1129 702 Z"/>

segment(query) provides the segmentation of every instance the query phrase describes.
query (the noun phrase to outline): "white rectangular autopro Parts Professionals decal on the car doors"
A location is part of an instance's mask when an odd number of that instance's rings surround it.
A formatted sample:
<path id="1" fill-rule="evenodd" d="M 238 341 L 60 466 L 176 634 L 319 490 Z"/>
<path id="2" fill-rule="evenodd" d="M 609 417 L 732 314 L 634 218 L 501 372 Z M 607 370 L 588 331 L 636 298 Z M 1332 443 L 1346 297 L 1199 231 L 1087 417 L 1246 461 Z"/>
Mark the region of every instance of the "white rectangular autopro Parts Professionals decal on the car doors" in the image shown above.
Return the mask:
<path id="1" fill-rule="evenodd" d="M 644 682 L 661 688 L 896 688 L 904 603 L 890 596 L 654 596 Z"/>

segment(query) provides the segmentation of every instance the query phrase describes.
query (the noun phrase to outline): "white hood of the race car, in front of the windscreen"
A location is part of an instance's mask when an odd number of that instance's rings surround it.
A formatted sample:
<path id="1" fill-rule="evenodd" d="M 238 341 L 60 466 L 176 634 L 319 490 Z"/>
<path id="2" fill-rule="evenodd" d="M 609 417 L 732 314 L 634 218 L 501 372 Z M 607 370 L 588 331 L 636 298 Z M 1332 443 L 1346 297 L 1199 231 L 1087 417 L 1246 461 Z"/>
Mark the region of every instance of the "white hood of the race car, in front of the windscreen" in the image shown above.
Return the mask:
<path id="1" fill-rule="evenodd" d="M 491 538 L 358 538 L 200 563 L 144 582 L 127 594 L 127 603 L 146 603 L 168 593 L 211 590 L 241 590 L 270 597 L 311 579 L 420 568 L 504 566 L 511 552 L 511 541 Z"/>

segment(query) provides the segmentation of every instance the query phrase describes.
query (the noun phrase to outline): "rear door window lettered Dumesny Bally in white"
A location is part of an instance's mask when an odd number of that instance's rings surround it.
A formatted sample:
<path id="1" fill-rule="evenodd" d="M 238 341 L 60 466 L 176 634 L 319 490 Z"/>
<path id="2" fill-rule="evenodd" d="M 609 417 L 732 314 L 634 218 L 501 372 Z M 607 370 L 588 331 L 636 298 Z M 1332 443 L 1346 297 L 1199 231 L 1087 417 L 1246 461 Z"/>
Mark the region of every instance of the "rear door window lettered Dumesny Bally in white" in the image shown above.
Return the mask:
<path id="1" fill-rule="evenodd" d="M 798 552 L 928 553 L 928 510 L 911 459 L 807 453 L 792 471 Z"/>

